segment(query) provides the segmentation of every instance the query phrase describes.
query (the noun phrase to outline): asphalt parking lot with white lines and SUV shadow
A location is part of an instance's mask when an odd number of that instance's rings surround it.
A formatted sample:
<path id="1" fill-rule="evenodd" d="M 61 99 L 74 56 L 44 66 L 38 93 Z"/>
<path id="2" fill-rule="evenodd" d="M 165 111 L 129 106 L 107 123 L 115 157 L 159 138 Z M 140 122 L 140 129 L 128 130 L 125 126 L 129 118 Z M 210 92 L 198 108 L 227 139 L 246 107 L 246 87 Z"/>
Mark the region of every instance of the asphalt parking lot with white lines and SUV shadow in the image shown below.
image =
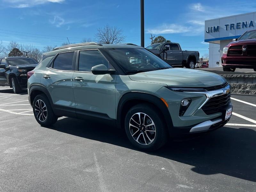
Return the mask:
<path id="1" fill-rule="evenodd" d="M 224 127 L 145 153 L 100 122 L 41 127 L 26 92 L 0 87 L 0 191 L 256 191 L 256 96 L 232 103 Z"/>

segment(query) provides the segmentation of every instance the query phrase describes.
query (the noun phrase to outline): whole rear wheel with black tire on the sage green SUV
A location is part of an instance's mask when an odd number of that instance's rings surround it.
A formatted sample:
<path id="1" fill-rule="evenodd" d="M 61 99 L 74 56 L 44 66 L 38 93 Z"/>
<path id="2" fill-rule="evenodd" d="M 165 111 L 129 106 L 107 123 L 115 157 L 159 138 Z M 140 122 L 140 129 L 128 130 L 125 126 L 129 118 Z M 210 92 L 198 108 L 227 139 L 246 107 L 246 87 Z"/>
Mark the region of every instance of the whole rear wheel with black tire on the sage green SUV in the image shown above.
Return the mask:
<path id="1" fill-rule="evenodd" d="M 48 98 L 44 94 L 36 95 L 33 101 L 33 113 L 36 121 L 42 126 L 50 126 L 55 124 L 58 120 L 58 117 L 53 113 L 52 106 Z"/>

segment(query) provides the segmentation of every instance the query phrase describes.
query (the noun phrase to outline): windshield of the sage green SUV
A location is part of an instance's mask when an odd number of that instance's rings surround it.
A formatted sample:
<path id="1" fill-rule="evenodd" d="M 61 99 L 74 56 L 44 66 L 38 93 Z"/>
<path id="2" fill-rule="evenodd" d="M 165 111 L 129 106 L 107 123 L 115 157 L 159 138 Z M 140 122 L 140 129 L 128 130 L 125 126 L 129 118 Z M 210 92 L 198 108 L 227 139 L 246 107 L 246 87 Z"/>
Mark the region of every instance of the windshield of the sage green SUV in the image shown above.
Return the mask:
<path id="1" fill-rule="evenodd" d="M 110 55 L 120 64 L 126 73 L 153 71 L 172 68 L 154 53 L 141 48 L 107 49 Z"/>

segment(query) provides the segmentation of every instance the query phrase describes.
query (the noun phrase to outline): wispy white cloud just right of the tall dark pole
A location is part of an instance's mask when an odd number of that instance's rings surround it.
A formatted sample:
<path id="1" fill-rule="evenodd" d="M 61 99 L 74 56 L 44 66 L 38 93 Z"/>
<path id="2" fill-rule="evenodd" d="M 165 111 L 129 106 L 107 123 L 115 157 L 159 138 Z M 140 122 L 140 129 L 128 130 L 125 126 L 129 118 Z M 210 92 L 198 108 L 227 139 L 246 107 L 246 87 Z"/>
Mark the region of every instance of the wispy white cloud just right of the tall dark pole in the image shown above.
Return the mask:
<path id="1" fill-rule="evenodd" d="M 147 29 L 147 33 L 153 34 L 186 33 L 189 31 L 189 27 L 176 24 L 163 24 L 160 27 Z"/>

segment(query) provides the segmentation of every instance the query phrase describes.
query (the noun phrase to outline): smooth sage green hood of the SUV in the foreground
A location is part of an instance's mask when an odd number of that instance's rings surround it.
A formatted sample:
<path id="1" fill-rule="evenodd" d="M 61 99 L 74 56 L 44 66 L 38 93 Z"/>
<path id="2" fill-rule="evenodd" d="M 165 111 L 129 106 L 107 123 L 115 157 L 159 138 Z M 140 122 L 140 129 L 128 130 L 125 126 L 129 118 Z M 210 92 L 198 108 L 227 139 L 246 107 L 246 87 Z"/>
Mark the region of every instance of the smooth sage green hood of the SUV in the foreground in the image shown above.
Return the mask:
<path id="1" fill-rule="evenodd" d="M 210 87 L 226 80 L 211 72 L 197 69 L 170 68 L 129 75 L 133 81 L 166 84 L 179 87 Z"/>

